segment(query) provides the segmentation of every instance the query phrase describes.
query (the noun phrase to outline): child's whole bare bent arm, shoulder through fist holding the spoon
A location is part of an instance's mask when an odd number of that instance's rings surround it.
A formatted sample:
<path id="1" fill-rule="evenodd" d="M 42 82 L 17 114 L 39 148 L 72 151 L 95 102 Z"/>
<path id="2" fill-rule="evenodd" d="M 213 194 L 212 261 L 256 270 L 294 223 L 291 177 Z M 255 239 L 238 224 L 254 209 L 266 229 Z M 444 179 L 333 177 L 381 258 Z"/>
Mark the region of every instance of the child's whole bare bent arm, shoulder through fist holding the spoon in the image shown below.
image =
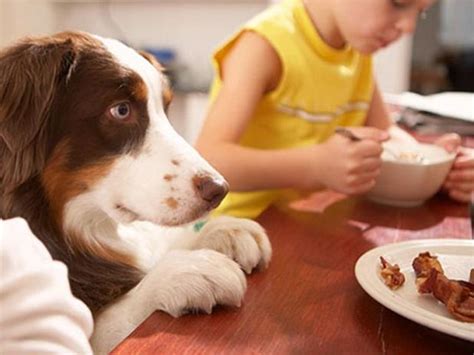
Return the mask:
<path id="1" fill-rule="evenodd" d="M 197 149 L 233 191 L 327 186 L 350 194 L 366 192 L 378 175 L 380 141 L 386 138 L 377 129 L 359 128 L 359 136 L 367 138 L 361 142 L 335 135 L 323 144 L 295 149 L 260 150 L 238 144 L 259 101 L 278 85 L 281 70 L 269 43 L 253 32 L 244 33 L 224 60 L 222 88 Z"/>

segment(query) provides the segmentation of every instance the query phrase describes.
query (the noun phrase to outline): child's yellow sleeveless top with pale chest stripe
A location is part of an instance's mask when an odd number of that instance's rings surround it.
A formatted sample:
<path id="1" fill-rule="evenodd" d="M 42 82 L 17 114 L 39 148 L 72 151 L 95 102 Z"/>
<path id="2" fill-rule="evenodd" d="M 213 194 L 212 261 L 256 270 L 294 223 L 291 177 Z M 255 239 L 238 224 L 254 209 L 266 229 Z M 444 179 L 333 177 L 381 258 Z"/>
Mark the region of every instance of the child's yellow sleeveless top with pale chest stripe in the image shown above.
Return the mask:
<path id="1" fill-rule="evenodd" d="M 216 51 L 211 100 L 221 87 L 221 63 L 244 31 L 254 31 L 272 45 L 282 63 L 282 77 L 258 104 L 240 139 L 242 146 L 268 150 L 308 146 L 325 141 L 337 126 L 364 124 L 373 92 L 372 59 L 349 46 L 341 50 L 328 46 L 302 0 L 269 7 Z M 293 198 L 295 192 L 231 192 L 215 214 L 255 218 L 270 204 Z"/>

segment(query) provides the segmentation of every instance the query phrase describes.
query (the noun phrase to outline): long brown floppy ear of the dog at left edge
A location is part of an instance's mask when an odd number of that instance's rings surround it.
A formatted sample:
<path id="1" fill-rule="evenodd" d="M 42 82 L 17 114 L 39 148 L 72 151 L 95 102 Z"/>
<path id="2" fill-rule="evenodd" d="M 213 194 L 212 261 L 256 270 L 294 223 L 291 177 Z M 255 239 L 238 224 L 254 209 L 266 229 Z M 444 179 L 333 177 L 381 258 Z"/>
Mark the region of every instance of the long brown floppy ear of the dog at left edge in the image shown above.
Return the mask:
<path id="1" fill-rule="evenodd" d="M 76 61 L 70 39 L 26 39 L 0 52 L 0 181 L 4 191 L 44 166 L 51 104 Z"/>

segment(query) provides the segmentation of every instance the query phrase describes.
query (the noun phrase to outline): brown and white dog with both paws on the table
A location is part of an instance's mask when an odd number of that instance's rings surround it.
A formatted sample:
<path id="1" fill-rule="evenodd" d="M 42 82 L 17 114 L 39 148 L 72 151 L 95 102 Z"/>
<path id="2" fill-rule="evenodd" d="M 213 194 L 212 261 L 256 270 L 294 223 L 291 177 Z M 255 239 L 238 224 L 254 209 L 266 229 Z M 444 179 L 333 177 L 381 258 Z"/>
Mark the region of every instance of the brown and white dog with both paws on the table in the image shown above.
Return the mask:
<path id="1" fill-rule="evenodd" d="M 227 184 L 166 117 L 160 65 L 119 41 L 64 32 L 0 52 L 0 217 L 23 217 L 69 269 L 113 348 L 155 310 L 238 306 L 266 267 L 255 222 L 211 219 Z M 21 246 L 19 246 L 21 247 Z"/>

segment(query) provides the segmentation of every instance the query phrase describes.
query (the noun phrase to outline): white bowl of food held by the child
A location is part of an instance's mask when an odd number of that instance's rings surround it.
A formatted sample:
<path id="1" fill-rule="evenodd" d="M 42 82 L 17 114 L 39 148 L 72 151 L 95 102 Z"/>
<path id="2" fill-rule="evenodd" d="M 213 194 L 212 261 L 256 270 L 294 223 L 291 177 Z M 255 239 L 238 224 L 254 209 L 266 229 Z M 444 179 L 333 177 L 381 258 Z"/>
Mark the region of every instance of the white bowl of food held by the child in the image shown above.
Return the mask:
<path id="1" fill-rule="evenodd" d="M 441 188 L 456 154 L 433 144 L 418 144 L 409 150 L 399 148 L 399 151 L 423 159 L 400 160 L 384 151 L 380 175 L 367 197 L 393 206 L 421 205 Z"/>

